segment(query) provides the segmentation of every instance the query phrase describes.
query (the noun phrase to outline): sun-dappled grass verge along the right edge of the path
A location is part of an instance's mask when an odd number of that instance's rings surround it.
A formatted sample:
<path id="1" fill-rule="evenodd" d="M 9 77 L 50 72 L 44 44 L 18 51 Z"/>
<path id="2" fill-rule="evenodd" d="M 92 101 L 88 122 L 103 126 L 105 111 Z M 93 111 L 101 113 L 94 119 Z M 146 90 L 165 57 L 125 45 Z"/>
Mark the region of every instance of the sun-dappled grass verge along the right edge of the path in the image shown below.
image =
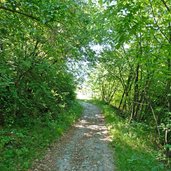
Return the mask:
<path id="1" fill-rule="evenodd" d="M 157 160 L 159 152 L 155 149 L 153 131 L 145 124 L 131 123 L 117 115 L 108 105 L 98 103 L 106 118 L 106 125 L 112 137 L 118 171 L 169 171 Z"/>

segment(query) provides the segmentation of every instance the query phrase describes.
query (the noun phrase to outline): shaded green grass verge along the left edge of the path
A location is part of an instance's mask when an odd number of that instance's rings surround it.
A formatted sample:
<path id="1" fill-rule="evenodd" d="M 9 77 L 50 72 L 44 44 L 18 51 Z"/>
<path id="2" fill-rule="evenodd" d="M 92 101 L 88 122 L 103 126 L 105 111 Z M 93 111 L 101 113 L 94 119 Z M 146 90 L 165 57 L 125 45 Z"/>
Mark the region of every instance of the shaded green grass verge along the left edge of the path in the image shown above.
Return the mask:
<path id="1" fill-rule="evenodd" d="M 79 103 L 60 114 L 57 120 L 25 127 L 0 128 L 0 171 L 28 170 L 50 144 L 66 132 L 82 113 Z"/>

